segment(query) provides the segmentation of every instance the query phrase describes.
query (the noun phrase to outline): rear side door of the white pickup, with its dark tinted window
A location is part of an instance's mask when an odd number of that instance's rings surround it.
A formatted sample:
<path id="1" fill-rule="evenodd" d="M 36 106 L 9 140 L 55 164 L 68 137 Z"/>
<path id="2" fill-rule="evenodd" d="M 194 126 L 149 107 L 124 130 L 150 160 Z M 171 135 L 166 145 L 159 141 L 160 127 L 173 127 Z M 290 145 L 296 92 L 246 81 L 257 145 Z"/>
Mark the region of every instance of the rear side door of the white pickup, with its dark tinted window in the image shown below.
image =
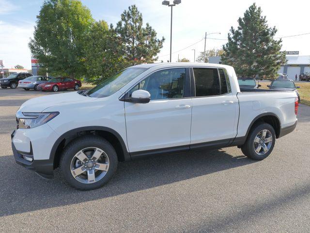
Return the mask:
<path id="1" fill-rule="evenodd" d="M 193 67 L 191 148 L 228 144 L 237 134 L 238 100 L 225 69 Z"/>

